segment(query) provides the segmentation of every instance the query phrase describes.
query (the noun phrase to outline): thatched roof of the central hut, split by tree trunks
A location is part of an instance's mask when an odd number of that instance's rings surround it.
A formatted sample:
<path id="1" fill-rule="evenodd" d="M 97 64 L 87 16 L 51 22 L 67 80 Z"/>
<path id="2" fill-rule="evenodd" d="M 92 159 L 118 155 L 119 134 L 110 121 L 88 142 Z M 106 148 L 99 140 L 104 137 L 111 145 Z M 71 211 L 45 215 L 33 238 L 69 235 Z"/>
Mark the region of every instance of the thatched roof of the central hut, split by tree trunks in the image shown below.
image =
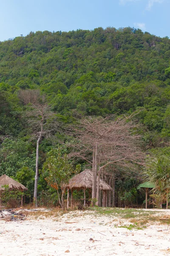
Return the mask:
<path id="1" fill-rule="evenodd" d="M 68 187 L 70 189 L 92 189 L 92 171 L 85 169 L 83 172 L 70 179 Z M 101 190 L 113 190 L 104 180 L 100 179 Z"/>

